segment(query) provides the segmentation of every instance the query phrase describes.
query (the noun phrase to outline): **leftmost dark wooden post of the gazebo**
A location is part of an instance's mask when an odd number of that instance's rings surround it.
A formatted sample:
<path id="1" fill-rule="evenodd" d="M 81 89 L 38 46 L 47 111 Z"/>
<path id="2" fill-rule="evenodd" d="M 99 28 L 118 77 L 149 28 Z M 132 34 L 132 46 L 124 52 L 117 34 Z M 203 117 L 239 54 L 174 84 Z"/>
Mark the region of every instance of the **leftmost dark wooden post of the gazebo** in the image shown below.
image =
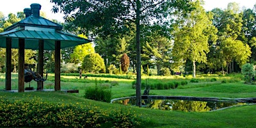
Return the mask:
<path id="1" fill-rule="evenodd" d="M 5 90 L 12 90 L 12 38 L 6 38 Z"/>

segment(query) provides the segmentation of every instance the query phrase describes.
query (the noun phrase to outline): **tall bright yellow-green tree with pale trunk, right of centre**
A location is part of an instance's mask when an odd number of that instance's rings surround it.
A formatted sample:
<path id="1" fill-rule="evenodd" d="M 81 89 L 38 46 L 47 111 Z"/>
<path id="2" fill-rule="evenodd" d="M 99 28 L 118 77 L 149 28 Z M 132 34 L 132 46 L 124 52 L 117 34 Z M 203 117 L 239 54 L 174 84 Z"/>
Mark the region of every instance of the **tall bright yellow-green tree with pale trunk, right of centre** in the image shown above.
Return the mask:
<path id="1" fill-rule="evenodd" d="M 209 52 L 209 38 L 216 34 L 211 13 L 206 13 L 200 1 L 191 3 L 195 10 L 186 19 L 180 18 L 174 33 L 174 61 L 190 60 L 193 63 L 193 77 L 196 77 L 196 62 L 206 63 Z M 181 24 L 183 23 L 183 24 Z"/>

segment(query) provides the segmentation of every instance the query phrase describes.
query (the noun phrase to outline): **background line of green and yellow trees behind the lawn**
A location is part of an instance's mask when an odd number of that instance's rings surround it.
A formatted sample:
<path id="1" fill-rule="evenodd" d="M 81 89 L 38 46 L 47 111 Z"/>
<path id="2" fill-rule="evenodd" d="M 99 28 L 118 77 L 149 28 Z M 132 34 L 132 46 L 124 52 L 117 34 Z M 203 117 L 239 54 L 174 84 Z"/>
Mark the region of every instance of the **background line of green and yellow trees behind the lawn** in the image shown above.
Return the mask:
<path id="1" fill-rule="evenodd" d="M 240 72 L 241 66 L 245 63 L 255 63 L 256 6 L 253 9 L 241 9 L 237 3 L 229 3 L 225 9 L 214 8 L 206 12 L 202 7 L 204 1 L 189 1 L 186 6 L 180 7 L 182 9 L 172 8 L 172 10 L 164 8 L 167 5 L 160 2 L 158 5 L 162 5 L 161 10 L 154 11 L 161 11 L 161 15 L 151 12 L 150 15 L 154 15 L 154 19 L 140 22 L 141 72 L 143 74 L 150 75 L 150 69 L 156 69 L 157 75 L 163 75 L 161 73 L 163 70 L 170 70 L 172 73 L 183 72 L 193 76 L 196 72 L 227 74 Z M 115 7 L 115 4 L 111 6 Z M 100 12 L 97 11 L 86 15 L 90 18 L 77 15 L 77 20 L 67 15 L 65 23 L 62 23 L 63 30 L 79 36 L 87 35 L 93 38 L 93 43 L 61 50 L 63 69 L 68 68 L 68 65 L 72 68 L 65 72 L 77 72 L 77 69 L 81 68 L 86 72 L 109 73 L 113 72 L 113 67 L 120 67 L 118 73 L 121 70 L 137 72 L 136 22 L 129 17 L 120 20 L 109 18 L 113 17 L 113 13 L 118 12 L 118 8 L 114 7 L 108 10 L 108 15 L 104 17 L 99 17 L 97 13 Z M 104 8 L 103 5 L 102 8 Z M 120 8 L 126 13 L 125 9 Z M 45 17 L 44 14 L 43 17 Z M 17 15 L 10 13 L 8 17 L 4 17 L 0 12 L 0 31 L 3 32 L 4 28 L 24 18 L 23 12 L 17 12 Z M 86 20 L 81 20 L 83 18 Z M 102 22 L 93 22 L 95 18 L 104 18 L 104 26 Z M 58 21 L 54 20 L 54 22 Z M 12 49 L 13 72 L 16 72 L 17 53 L 17 49 Z M 25 61 L 35 64 L 37 52 L 26 50 L 25 53 Z M 99 56 L 90 55 L 96 53 Z M 129 57 L 129 70 L 122 69 L 121 66 L 121 58 L 124 54 Z M 89 70 L 94 64 L 90 66 L 88 61 L 95 61 L 88 60 L 89 55 L 97 56 L 95 59 L 103 59 L 104 62 L 100 63 L 104 66 L 99 66 L 102 70 Z M 0 67 L 4 72 L 5 49 L 0 48 L 0 56 Z M 50 72 L 54 71 L 53 56 L 54 52 L 44 51 L 45 68 Z"/>

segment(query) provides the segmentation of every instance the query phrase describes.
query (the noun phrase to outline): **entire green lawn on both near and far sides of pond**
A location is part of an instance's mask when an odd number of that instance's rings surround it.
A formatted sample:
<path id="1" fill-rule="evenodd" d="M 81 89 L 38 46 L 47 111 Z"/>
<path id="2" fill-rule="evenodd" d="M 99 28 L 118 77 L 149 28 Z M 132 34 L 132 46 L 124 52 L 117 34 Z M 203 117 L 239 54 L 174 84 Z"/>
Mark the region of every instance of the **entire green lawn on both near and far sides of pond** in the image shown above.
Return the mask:
<path id="1" fill-rule="evenodd" d="M 170 96 L 195 96 L 195 97 L 255 97 L 256 85 L 244 84 L 243 81 L 236 83 L 221 83 L 223 79 L 234 81 L 240 76 L 219 77 L 213 76 L 217 81 L 211 82 L 212 76 L 202 76 L 196 79 L 199 83 L 188 83 L 172 90 L 150 90 L 150 95 L 170 95 Z M 162 79 L 162 77 L 143 77 L 145 79 Z M 118 86 L 113 86 L 111 92 L 113 98 L 129 97 L 136 93 L 132 89 L 134 79 L 116 79 L 111 77 L 88 77 L 88 79 L 76 79 L 76 76 L 61 76 L 61 89 L 79 89 L 79 94 L 68 94 L 63 92 L 27 92 L 27 93 L 8 93 L 0 92 L 0 96 L 6 99 L 29 100 L 34 97 L 40 97 L 44 102 L 56 102 L 72 104 L 95 105 L 102 109 L 132 109 L 135 113 L 141 115 L 141 127 L 255 127 L 256 124 L 256 105 L 236 106 L 221 111 L 211 111 L 204 113 L 182 112 L 182 111 L 161 111 L 154 109 L 138 108 L 134 106 L 122 106 L 119 104 L 109 104 L 106 102 L 97 102 L 84 99 L 86 87 L 95 85 L 95 79 L 102 83 L 118 81 Z M 179 79 L 191 79 L 191 77 L 164 77 L 163 81 L 176 81 Z M 45 81 L 44 86 L 54 88 L 53 75 Z M 237 80 L 236 80 L 237 81 Z M 31 82 L 31 86 L 35 86 Z M 100 84 L 100 82 L 98 83 Z M 28 86 L 26 83 L 25 86 Z M 4 88 L 4 74 L 0 74 L 0 89 Z M 12 90 L 17 89 L 17 74 L 12 77 Z M 143 92 L 143 90 L 141 90 Z"/>

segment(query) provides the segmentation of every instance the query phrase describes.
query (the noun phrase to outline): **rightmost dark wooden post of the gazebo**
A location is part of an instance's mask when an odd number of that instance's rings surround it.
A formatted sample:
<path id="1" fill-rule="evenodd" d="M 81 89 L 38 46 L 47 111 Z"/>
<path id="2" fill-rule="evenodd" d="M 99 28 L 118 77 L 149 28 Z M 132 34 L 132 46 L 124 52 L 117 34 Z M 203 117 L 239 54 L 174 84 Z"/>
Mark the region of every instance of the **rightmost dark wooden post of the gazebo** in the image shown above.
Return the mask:
<path id="1" fill-rule="evenodd" d="M 55 41 L 55 91 L 60 91 L 60 41 Z"/>

